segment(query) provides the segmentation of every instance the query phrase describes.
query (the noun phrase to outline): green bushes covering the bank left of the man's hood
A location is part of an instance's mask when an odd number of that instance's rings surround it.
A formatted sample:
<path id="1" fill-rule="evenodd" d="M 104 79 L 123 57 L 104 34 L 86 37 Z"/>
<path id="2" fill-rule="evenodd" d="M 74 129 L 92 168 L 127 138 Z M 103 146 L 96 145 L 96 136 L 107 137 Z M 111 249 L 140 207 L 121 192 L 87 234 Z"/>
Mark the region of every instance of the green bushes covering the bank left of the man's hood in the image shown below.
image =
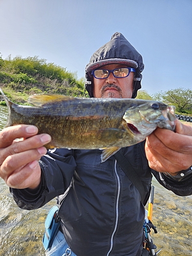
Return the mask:
<path id="1" fill-rule="evenodd" d="M 75 72 L 47 63 L 37 56 L 11 59 L 10 55 L 5 60 L 0 57 L 0 83 L 8 98 L 17 103 L 28 104 L 27 98 L 32 94 L 82 97 L 84 81 L 84 78 L 78 80 Z"/>

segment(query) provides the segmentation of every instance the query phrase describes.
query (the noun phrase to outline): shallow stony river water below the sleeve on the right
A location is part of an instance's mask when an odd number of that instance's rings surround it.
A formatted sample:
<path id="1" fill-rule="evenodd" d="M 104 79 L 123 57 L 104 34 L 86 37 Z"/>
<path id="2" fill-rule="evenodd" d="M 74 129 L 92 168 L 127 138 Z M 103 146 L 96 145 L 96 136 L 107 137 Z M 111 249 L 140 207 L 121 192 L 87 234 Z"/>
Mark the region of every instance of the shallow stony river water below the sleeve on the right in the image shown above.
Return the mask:
<path id="1" fill-rule="evenodd" d="M 159 256 L 192 255 L 192 196 L 179 197 L 163 188 L 154 178 L 155 199 L 153 224 L 157 234 L 152 231 Z"/>

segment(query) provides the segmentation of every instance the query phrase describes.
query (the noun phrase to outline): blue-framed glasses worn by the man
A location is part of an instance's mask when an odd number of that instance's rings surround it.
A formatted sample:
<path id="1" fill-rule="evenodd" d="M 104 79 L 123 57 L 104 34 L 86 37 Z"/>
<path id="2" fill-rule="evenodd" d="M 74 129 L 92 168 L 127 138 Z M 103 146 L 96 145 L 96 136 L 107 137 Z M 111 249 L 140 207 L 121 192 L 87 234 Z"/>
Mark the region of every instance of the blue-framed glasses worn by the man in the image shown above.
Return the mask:
<path id="1" fill-rule="evenodd" d="M 114 70 L 108 70 L 108 69 L 95 69 L 92 70 L 91 74 L 94 75 L 97 79 L 104 79 L 108 78 L 110 73 L 113 73 L 113 75 L 117 78 L 123 78 L 129 76 L 130 72 L 135 72 L 134 68 L 118 68 Z"/>

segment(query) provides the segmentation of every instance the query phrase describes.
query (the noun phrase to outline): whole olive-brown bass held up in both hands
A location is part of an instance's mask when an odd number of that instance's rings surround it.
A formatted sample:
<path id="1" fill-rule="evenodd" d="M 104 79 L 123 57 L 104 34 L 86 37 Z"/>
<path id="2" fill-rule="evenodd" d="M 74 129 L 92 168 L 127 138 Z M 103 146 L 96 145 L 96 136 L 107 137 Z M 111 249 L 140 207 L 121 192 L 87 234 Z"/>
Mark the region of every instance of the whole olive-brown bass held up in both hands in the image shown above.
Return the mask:
<path id="1" fill-rule="evenodd" d="M 157 127 L 175 130 L 175 106 L 160 101 L 37 94 L 28 99 L 32 105 L 19 105 L 0 91 L 8 107 L 6 127 L 35 125 L 38 134 L 51 135 L 47 149 L 100 149 L 101 162 L 144 141 Z"/>

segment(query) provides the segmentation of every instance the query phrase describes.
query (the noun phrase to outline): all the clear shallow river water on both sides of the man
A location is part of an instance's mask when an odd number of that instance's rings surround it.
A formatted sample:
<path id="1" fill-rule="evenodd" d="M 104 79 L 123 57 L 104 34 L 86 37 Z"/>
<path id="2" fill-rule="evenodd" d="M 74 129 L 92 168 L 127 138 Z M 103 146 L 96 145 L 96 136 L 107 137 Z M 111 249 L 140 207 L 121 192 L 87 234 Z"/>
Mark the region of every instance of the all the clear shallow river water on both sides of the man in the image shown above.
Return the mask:
<path id="1" fill-rule="evenodd" d="M 5 126 L 6 119 L 7 108 L 0 105 L 0 130 Z M 162 249 L 158 256 L 192 255 L 192 196 L 176 196 L 155 179 L 153 185 L 153 224 L 157 226 L 158 233 L 152 231 L 152 238 L 157 248 Z M 44 222 L 54 204 L 55 200 L 52 200 L 37 210 L 19 209 L 9 188 L 0 178 L 0 256 L 45 255 L 41 244 Z"/>

